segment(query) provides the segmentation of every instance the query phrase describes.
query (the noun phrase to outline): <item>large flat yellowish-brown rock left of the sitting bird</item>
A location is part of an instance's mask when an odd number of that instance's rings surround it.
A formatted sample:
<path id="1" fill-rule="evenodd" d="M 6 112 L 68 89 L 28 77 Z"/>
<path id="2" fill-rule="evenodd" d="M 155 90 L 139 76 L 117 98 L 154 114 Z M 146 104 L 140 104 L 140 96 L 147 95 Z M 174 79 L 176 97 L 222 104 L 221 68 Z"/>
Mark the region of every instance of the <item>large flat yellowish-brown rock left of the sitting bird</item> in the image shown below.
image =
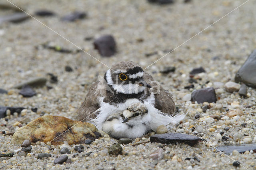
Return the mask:
<path id="1" fill-rule="evenodd" d="M 100 132 L 91 123 L 72 121 L 66 117 L 46 115 L 19 128 L 14 133 L 12 142 L 22 143 L 27 139 L 33 143 L 37 141 L 44 143 L 51 141 L 53 145 L 59 145 L 67 141 L 68 144 L 76 144 L 84 143 L 86 139 L 95 140 L 102 135 L 104 136 L 104 132 Z"/>

